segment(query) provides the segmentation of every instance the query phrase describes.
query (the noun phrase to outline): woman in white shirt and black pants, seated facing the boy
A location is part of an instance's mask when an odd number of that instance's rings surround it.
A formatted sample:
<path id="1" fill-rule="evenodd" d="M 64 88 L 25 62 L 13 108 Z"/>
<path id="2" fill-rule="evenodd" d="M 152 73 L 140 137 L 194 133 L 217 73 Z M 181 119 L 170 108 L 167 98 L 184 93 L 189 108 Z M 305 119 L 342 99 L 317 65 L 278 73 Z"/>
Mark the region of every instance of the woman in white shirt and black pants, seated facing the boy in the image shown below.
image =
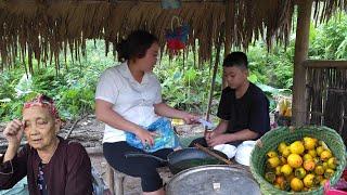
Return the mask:
<path id="1" fill-rule="evenodd" d="M 143 194 L 165 194 L 156 171 L 160 164 L 152 158 L 126 158 L 129 152 L 144 153 L 126 142 L 126 133 L 133 133 L 143 145 L 153 145 L 155 133 L 146 130 L 159 116 L 181 118 L 187 123 L 194 115 L 175 109 L 162 101 L 160 84 L 153 74 L 158 56 L 157 38 L 144 30 L 131 32 L 117 44 L 118 66 L 106 69 L 100 77 L 95 92 L 95 114 L 105 122 L 104 156 L 116 170 L 140 177 Z M 166 158 L 172 148 L 152 153 Z"/>

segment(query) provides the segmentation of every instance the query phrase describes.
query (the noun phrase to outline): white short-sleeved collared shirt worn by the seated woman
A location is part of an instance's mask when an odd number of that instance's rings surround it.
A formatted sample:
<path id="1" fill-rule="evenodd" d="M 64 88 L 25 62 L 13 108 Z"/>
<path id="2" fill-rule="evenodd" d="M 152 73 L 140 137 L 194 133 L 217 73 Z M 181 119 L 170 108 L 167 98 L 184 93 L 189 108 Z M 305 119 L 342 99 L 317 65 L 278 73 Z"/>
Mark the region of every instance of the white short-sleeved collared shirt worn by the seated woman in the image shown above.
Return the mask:
<path id="1" fill-rule="evenodd" d="M 127 63 L 106 69 L 100 77 L 95 99 L 113 104 L 113 110 L 125 119 L 146 127 L 158 119 L 154 104 L 162 102 L 160 83 L 153 73 L 145 73 L 139 83 Z M 103 143 L 125 141 L 123 130 L 105 123 Z"/>

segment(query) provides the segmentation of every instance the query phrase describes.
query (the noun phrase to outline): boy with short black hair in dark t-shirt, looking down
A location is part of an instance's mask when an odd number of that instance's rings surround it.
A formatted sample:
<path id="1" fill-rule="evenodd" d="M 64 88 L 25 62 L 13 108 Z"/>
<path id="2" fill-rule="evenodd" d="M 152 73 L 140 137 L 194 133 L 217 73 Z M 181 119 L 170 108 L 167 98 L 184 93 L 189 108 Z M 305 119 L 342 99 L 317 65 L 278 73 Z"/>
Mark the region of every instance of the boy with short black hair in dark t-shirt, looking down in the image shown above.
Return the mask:
<path id="1" fill-rule="evenodd" d="M 232 52 L 223 61 L 228 87 L 222 90 L 217 116 L 218 126 L 194 140 L 204 146 L 232 144 L 257 140 L 270 130 L 269 101 L 260 88 L 249 82 L 248 61 L 243 52 Z"/>

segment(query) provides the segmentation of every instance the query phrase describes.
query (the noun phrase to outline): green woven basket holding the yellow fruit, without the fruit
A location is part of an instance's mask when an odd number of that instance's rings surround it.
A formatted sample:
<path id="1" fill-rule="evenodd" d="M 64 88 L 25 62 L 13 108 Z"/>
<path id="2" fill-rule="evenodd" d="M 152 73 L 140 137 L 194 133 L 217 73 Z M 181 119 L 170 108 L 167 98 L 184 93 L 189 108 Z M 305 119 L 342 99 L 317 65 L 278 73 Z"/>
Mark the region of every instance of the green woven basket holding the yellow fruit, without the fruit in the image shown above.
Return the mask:
<path id="1" fill-rule="evenodd" d="M 260 184 L 262 194 L 323 194 L 323 186 L 310 192 L 300 193 L 281 191 L 275 188 L 264 178 L 267 160 L 266 154 L 270 150 L 277 150 L 278 145 L 283 141 L 291 143 L 296 140 L 301 140 L 304 136 L 313 136 L 325 142 L 339 162 L 334 176 L 330 179 L 331 185 L 334 185 L 340 178 L 346 166 L 346 147 L 340 135 L 337 134 L 335 130 L 321 126 L 307 126 L 300 128 L 280 127 L 261 136 L 252 152 L 250 171 Z"/>

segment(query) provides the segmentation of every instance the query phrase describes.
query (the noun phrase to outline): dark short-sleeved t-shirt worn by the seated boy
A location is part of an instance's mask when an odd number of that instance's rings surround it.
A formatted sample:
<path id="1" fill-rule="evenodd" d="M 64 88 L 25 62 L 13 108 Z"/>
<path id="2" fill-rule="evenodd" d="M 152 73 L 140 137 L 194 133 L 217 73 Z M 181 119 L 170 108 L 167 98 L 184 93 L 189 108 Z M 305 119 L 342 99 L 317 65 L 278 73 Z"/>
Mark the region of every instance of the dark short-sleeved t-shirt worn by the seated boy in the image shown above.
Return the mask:
<path id="1" fill-rule="evenodd" d="M 258 132 L 260 138 L 270 130 L 269 100 L 261 89 L 252 82 L 241 99 L 235 98 L 234 89 L 223 89 L 217 116 L 229 120 L 227 133 L 249 129 Z"/>

